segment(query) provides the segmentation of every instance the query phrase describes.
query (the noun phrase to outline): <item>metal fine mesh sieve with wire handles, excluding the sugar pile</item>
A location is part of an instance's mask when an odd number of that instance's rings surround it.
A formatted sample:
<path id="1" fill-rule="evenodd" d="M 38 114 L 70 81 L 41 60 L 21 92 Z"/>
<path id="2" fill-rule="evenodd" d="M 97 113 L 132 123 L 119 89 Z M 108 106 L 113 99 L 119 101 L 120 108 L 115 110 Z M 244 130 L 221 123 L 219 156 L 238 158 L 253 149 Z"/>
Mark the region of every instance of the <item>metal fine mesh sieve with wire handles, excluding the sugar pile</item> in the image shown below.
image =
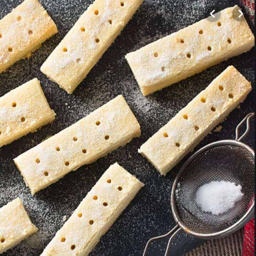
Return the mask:
<path id="1" fill-rule="evenodd" d="M 249 133 L 252 117 L 254 113 L 248 114 L 236 127 L 235 140 L 210 143 L 185 162 L 171 192 L 171 210 L 177 225 L 167 234 L 151 238 L 143 256 L 152 241 L 172 234 L 165 252 L 165 256 L 169 255 L 171 241 L 181 230 L 201 239 L 218 239 L 241 229 L 251 220 L 254 216 L 254 150 L 240 141 Z M 239 138 L 239 129 L 245 121 L 247 129 Z M 211 181 L 222 180 L 241 185 L 244 196 L 226 213 L 204 212 L 195 201 L 197 189 Z"/>

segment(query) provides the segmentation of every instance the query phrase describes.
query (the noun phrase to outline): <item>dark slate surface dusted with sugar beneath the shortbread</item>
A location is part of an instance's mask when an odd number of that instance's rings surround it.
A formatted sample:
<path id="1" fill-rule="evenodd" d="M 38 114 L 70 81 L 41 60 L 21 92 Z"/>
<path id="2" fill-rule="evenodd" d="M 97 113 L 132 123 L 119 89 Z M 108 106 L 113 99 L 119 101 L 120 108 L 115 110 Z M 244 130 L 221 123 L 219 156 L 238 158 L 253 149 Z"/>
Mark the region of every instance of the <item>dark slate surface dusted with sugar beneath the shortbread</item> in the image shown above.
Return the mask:
<path id="1" fill-rule="evenodd" d="M 0 0 L 0 18 L 21 2 L 21 0 Z M 197 149 L 220 139 L 234 139 L 236 125 L 247 113 L 254 110 L 255 106 L 255 50 L 231 58 L 146 98 L 140 93 L 124 55 L 209 16 L 213 9 L 218 11 L 233 6 L 235 2 L 145 0 L 87 78 L 73 95 L 68 95 L 49 81 L 39 68 L 91 1 L 41 1 L 57 23 L 59 33 L 45 42 L 30 59 L 21 60 L 6 73 L 0 74 L 0 96 L 37 77 L 57 117 L 52 124 L 38 132 L 0 148 L 0 206 L 19 196 L 32 222 L 39 228 L 36 234 L 2 254 L 3 256 L 39 256 L 56 231 L 62 227 L 63 216 L 70 217 L 103 172 L 116 161 L 144 182 L 145 187 L 102 237 L 90 255 L 142 255 L 146 241 L 150 237 L 166 233 L 175 225 L 170 210 L 171 186 L 181 164 L 188 156 L 166 177 L 161 177 L 153 166 L 137 153 L 137 149 L 231 64 L 252 82 L 254 89 L 241 104 L 241 108 L 234 110 L 222 124 L 221 132 L 208 135 Z M 75 123 L 119 94 L 123 94 L 126 98 L 141 124 L 142 136 L 95 163 L 71 172 L 32 197 L 12 159 L 37 145 L 47 136 Z M 254 127 L 245 142 L 254 147 L 253 131 Z M 166 242 L 165 240 L 154 244 L 150 255 L 164 255 Z M 202 241 L 187 234 L 180 234 L 172 246 L 172 255 L 181 256 L 201 243 Z"/>

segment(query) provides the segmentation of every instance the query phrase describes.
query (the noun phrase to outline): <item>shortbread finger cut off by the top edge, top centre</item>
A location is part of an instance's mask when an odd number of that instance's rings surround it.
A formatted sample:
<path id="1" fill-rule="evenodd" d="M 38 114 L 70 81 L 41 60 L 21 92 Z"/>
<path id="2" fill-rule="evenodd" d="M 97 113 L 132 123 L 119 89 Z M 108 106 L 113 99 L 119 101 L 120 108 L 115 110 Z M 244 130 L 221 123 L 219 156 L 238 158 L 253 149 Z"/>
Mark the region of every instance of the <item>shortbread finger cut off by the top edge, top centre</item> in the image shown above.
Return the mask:
<path id="1" fill-rule="evenodd" d="M 95 0 L 54 49 L 41 71 L 71 94 L 143 0 Z"/>

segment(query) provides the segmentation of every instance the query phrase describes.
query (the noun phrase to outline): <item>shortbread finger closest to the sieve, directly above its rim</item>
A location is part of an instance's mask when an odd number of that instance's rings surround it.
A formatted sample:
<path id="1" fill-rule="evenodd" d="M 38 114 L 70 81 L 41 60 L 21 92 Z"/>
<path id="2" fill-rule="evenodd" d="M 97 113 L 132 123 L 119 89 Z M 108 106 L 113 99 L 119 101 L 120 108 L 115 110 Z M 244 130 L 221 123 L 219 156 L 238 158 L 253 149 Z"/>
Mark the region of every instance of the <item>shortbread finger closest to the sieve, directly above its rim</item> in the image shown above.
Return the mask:
<path id="1" fill-rule="evenodd" d="M 225 69 L 210 85 L 176 114 L 139 149 L 161 175 L 166 175 L 187 153 L 251 91 L 233 66 Z"/>

